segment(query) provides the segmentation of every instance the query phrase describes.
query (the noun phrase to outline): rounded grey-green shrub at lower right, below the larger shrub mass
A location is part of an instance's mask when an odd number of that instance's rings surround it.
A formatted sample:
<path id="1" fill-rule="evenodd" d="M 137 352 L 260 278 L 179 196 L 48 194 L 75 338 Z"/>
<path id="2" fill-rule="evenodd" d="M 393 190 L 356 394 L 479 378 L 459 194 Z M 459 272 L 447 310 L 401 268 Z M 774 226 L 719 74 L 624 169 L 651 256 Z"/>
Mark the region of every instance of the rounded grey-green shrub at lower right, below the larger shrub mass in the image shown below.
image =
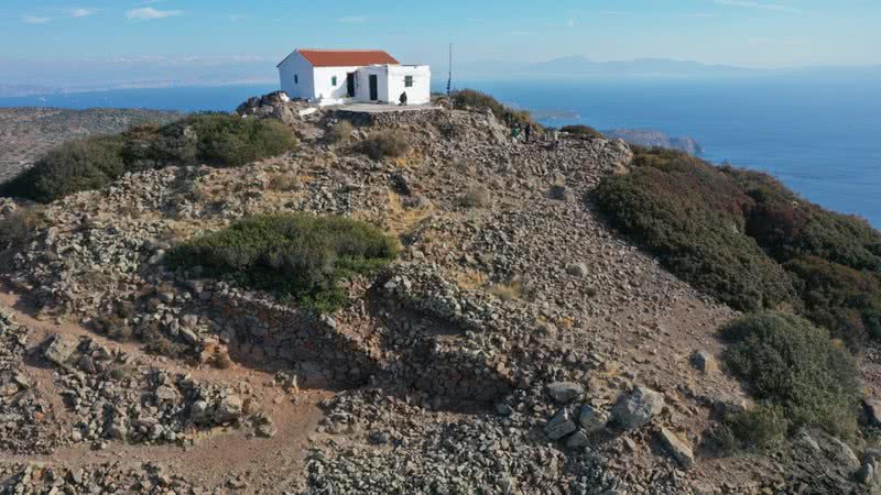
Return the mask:
<path id="1" fill-rule="evenodd" d="M 725 326 L 721 337 L 728 343 L 728 369 L 755 398 L 780 408 L 787 426 L 817 426 L 842 437 L 853 433 L 859 372 L 850 353 L 828 332 L 796 316 L 761 312 Z M 761 414 L 771 415 L 771 409 Z M 762 418 L 774 422 L 771 419 Z"/>

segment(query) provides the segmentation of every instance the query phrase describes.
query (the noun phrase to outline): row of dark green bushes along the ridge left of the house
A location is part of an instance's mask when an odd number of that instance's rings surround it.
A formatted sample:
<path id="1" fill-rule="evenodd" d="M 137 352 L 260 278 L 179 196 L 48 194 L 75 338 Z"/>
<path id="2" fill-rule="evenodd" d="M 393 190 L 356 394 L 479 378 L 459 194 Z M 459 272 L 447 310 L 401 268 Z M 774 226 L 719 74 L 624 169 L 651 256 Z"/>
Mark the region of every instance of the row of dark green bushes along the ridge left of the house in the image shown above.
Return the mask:
<path id="1" fill-rule="evenodd" d="M 48 202 L 97 189 L 127 172 L 171 165 L 239 166 L 296 146 L 293 131 L 275 120 L 205 113 L 166 125 L 72 141 L 0 186 L 0 194 Z"/>

